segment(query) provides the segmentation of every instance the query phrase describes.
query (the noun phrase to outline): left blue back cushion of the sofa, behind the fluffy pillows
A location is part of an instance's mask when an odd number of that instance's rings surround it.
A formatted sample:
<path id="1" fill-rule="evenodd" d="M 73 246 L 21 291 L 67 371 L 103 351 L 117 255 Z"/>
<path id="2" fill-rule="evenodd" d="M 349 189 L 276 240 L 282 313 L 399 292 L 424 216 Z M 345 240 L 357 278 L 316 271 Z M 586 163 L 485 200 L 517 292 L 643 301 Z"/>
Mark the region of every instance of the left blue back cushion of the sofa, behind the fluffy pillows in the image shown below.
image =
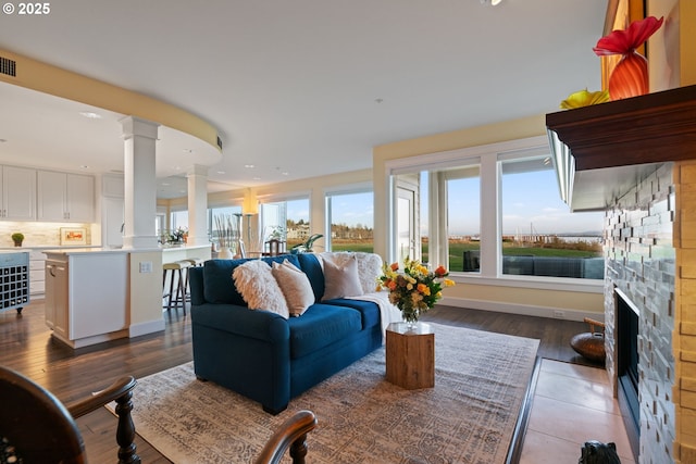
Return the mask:
<path id="1" fill-rule="evenodd" d="M 247 303 L 244 301 L 239 291 L 237 291 L 235 283 L 232 279 L 232 273 L 237 266 L 250 260 L 252 259 L 206 261 L 203 264 L 203 294 L 206 301 L 209 303 L 246 306 Z M 288 260 L 294 265 L 299 266 L 299 261 L 296 255 L 284 254 L 262 259 L 262 261 L 266 263 L 282 263 L 283 260 Z M 269 266 L 271 264 L 269 264 Z"/>

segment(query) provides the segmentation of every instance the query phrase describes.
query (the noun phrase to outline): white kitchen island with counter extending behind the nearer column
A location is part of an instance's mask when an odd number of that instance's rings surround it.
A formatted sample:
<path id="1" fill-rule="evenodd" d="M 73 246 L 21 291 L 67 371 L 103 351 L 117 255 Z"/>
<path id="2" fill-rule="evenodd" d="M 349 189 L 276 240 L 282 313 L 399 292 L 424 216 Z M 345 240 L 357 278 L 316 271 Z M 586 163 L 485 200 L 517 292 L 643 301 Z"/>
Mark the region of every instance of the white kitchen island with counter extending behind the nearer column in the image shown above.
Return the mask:
<path id="1" fill-rule="evenodd" d="M 210 259 L 209 244 L 61 248 L 46 254 L 46 324 L 82 348 L 162 330 L 162 263 Z"/>

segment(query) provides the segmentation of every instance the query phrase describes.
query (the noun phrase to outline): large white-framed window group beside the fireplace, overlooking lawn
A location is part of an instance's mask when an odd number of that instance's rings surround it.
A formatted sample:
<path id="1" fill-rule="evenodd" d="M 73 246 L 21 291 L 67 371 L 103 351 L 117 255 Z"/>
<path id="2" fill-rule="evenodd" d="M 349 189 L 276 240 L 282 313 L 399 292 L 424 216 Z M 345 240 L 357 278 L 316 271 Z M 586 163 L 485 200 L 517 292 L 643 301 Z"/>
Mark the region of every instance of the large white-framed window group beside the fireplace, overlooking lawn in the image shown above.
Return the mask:
<path id="1" fill-rule="evenodd" d="M 571 213 L 560 200 L 543 138 L 412 156 L 390 170 L 390 259 L 486 278 L 604 278 L 604 213 Z M 409 244 L 412 217 L 420 247 Z"/>

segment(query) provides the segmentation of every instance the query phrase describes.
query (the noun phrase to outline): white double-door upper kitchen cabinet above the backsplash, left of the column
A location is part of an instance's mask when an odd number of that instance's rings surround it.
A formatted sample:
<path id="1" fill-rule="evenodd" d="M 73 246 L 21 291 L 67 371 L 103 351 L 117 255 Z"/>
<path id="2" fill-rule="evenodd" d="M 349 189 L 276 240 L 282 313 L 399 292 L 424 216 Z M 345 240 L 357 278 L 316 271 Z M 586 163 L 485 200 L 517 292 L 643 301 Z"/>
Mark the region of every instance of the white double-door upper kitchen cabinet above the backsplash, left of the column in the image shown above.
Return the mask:
<path id="1" fill-rule="evenodd" d="M 38 171 L 39 221 L 91 223 L 95 178 L 84 174 Z"/>

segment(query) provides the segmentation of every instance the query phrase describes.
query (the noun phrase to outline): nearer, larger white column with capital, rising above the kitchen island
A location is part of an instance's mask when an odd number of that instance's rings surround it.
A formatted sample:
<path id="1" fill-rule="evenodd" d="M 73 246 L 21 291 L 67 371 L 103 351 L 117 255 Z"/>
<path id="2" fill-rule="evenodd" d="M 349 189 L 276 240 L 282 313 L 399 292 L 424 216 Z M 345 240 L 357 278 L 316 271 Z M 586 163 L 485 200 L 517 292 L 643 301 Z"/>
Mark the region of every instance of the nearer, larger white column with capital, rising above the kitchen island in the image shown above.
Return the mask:
<path id="1" fill-rule="evenodd" d="M 121 120 L 124 140 L 123 248 L 157 248 L 156 143 L 158 123 L 126 116 Z"/>

